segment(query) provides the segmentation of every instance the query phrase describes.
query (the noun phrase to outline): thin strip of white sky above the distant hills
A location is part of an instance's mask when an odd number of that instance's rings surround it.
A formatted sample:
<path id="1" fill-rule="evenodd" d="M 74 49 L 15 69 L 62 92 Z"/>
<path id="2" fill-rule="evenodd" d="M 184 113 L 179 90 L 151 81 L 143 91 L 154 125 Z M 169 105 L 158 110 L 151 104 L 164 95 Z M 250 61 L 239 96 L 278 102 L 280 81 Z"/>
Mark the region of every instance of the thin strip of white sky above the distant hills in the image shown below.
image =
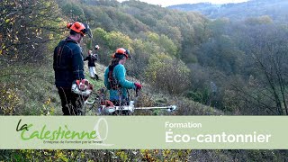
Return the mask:
<path id="1" fill-rule="evenodd" d="M 122 2 L 124 0 L 118 0 Z M 228 4 L 228 3 L 241 3 L 247 2 L 247 0 L 139 0 L 148 4 L 160 4 L 164 7 L 173 4 L 197 4 L 202 2 L 209 2 L 211 4 Z"/>

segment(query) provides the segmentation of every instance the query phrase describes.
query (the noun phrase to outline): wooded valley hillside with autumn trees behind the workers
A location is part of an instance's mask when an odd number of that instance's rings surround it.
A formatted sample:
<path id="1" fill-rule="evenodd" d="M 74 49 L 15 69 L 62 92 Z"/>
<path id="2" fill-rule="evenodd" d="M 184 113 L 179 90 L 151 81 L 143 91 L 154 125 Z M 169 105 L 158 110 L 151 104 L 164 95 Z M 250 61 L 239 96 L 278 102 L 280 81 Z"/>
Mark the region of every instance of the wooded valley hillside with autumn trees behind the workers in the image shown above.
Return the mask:
<path id="1" fill-rule="evenodd" d="M 113 49 L 131 49 L 130 75 L 155 92 L 184 95 L 229 114 L 288 114 L 285 23 L 268 15 L 212 21 L 139 1 L 58 4 L 67 19 L 90 22 L 104 65 Z"/>

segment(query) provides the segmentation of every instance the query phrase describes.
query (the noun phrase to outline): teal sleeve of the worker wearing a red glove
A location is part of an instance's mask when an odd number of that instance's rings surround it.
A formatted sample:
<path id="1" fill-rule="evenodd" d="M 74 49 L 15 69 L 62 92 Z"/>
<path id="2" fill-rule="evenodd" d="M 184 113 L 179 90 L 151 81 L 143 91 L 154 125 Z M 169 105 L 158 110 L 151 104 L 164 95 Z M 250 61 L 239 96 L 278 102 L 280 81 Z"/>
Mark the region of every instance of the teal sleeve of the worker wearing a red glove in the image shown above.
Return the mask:
<path id="1" fill-rule="evenodd" d="M 116 68 L 117 67 L 117 68 Z M 114 68 L 115 70 L 115 76 L 119 82 L 119 85 L 121 87 L 127 88 L 127 89 L 136 89 L 135 85 L 133 82 L 130 82 L 125 79 L 126 76 L 126 69 L 123 65 L 118 65 Z"/>

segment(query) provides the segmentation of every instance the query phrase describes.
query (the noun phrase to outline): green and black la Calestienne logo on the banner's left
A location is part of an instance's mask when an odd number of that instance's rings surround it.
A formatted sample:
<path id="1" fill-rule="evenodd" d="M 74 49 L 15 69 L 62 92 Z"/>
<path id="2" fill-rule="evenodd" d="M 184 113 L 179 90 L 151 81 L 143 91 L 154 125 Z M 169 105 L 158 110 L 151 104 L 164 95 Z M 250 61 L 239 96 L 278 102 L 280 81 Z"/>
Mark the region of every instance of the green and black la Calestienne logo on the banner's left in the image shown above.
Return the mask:
<path id="1" fill-rule="evenodd" d="M 112 146 L 112 144 L 103 144 L 108 138 L 108 122 L 100 118 L 95 122 L 94 130 L 82 130 L 82 128 L 72 129 L 69 124 L 58 126 L 57 129 L 50 130 L 46 124 L 36 126 L 33 123 L 23 123 L 22 119 L 18 121 L 16 131 L 20 132 L 20 138 L 24 141 L 40 139 L 43 143 L 59 144 L 96 144 L 103 146 Z"/>

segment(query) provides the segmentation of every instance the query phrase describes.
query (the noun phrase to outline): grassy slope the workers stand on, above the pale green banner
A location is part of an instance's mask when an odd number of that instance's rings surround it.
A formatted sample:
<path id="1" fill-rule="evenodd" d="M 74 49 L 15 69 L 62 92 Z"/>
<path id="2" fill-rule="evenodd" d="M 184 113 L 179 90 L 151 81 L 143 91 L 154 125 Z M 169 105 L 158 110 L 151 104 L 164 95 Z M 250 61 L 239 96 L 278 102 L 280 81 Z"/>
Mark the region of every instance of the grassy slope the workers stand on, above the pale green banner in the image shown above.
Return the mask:
<path id="1" fill-rule="evenodd" d="M 105 67 L 97 64 L 96 71 L 100 76 L 99 81 L 92 80 L 88 74 L 87 63 L 85 62 L 85 76 L 97 90 L 103 87 L 103 72 Z M 21 67 L 9 67 L 7 72 L 22 73 L 26 75 L 6 76 L 2 81 L 17 85 L 17 94 L 20 99 L 15 114 L 19 115 L 61 115 L 61 105 L 58 97 L 57 88 L 54 85 L 54 71 L 50 63 L 43 65 L 24 65 Z M 129 77 L 131 80 L 135 81 Z M 133 94 L 131 94 L 133 95 Z M 139 97 L 141 106 L 160 106 L 176 104 L 179 110 L 176 115 L 216 115 L 222 114 L 211 107 L 194 103 L 179 96 L 169 94 L 159 94 L 153 92 L 148 84 L 144 84 L 143 91 Z M 139 114 L 159 114 L 159 112 L 139 112 Z M 161 113 L 162 114 L 162 113 Z M 164 113 L 165 114 L 165 113 Z"/>

